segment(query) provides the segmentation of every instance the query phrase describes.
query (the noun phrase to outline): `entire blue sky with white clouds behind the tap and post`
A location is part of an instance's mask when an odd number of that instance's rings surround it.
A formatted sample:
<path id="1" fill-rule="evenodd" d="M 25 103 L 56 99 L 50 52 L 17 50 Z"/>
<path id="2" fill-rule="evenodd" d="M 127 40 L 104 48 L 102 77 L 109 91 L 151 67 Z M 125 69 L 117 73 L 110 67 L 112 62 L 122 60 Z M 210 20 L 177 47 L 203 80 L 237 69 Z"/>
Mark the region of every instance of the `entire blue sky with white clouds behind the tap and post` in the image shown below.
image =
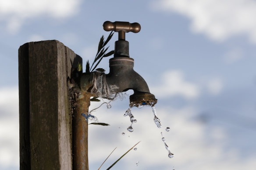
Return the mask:
<path id="1" fill-rule="evenodd" d="M 163 127 L 151 108 L 133 108 L 137 122 L 128 132 L 128 96 L 103 105 L 93 114 L 110 126 L 89 125 L 89 168 L 117 147 L 107 169 L 142 141 L 112 169 L 255 170 L 255 17 L 255 0 L 0 0 L 0 169 L 19 169 L 19 46 L 56 39 L 92 62 L 109 34 L 103 22 L 129 21 L 142 27 L 126 40 L 135 71 L 158 98 Z M 108 70 L 108 59 L 100 67 Z"/>

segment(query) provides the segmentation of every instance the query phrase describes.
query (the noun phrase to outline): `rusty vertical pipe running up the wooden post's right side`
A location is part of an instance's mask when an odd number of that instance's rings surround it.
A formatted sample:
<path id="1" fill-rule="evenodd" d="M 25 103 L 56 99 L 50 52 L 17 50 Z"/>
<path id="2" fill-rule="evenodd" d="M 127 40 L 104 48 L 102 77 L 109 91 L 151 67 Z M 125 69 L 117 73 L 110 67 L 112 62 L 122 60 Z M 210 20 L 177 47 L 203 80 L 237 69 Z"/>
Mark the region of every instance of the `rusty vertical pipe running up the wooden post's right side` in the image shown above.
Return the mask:
<path id="1" fill-rule="evenodd" d="M 73 118 L 73 170 L 89 170 L 88 164 L 88 122 L 82 114 L 88 114 L 90 96 L 81 92 Z"/>

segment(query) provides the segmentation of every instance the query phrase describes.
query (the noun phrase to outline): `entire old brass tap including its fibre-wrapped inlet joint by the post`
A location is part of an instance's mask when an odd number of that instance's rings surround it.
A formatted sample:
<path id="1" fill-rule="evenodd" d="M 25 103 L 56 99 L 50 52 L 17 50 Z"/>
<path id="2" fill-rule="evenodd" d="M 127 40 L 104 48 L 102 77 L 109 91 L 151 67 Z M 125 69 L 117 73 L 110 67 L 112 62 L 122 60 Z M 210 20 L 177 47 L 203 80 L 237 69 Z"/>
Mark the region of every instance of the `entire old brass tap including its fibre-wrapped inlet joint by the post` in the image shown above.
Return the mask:
<path id="1" fill-rule="evenodd" d="M 132 89 L 130 107 L 140 105 L 154 106 L 157 99 L 150 93 L 146 81 L 133 69 L 134 59 L 129 57 L 129 42 L 125 41 L 125 33 L 140 31 L 139 23 L 110 22 L 103 24 L 105 31 L 118 32 L 118 41 L 115 42 L 114 57 L 109 60 L 110 72 L 82 73 L 80 88 L 91 92 L 93 96 L 113 99 L 114 94 Z"/>

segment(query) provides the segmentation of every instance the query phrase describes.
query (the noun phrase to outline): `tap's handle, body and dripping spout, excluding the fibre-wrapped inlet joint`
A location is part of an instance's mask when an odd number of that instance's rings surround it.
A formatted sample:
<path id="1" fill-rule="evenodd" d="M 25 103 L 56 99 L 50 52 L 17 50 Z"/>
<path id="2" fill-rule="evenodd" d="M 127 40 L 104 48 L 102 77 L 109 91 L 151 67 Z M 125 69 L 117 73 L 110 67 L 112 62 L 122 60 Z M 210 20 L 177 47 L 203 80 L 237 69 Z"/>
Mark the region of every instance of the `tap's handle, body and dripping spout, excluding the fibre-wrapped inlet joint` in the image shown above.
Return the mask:
<path id="1" fill-rule="evenodd" d="M 119 93 L 132 89 L 134 94 L 130 96 L 130 106 L 156 104 L 157 99 L 150 93 L 146 81 L 133 69 L 134 59 L 129 57 L 129 42 L 125 41 L 125 33 L 138 33 L 141 29 L 140 24 L 106 21 L 103 29 L 118 32 L 114 58 L 109 60 L 110 72 L 106 75 L 109 92 Z"/>

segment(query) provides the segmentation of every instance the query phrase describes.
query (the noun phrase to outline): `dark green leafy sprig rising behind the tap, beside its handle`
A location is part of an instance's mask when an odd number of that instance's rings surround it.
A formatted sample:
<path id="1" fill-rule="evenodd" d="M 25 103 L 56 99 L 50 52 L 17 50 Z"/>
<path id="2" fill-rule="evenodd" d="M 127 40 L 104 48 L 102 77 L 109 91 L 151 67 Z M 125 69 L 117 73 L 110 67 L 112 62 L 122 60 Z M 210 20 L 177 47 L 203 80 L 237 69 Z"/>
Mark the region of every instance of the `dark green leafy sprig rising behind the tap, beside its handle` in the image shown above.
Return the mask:
<path id="1" fill-rule="evenodd" d="M 114 54 L 114 50 L 107 52 L 109 46 L 105 49 L 105 46 L 107 45 L 107 43 L 110 41 L 110 39 L 112 38 L 112 36 L 114 35 L 114 32 L 111 31 L 110 34 L 108 35 L 106 41 L 104 41 L 104 36 L 102 35 L 102 37 L 100 38 L 100 42 L 98 45 L 98 51 L 97 54 L 95 56 L 95 59 L 92 63 L 92 66 L 94 66 L 94 64 L 96 63 L 96 65 L 94 67 L 91 66 L 91 69 L 89 69 L 89 72 L 94 71 L 94 69 L 96 69 L 96 67 L 99 65 L 100 61 L 104 58 L 104 57 L 108 57 Z M 107 53 L 106 53 L 107 52 Z"/>

